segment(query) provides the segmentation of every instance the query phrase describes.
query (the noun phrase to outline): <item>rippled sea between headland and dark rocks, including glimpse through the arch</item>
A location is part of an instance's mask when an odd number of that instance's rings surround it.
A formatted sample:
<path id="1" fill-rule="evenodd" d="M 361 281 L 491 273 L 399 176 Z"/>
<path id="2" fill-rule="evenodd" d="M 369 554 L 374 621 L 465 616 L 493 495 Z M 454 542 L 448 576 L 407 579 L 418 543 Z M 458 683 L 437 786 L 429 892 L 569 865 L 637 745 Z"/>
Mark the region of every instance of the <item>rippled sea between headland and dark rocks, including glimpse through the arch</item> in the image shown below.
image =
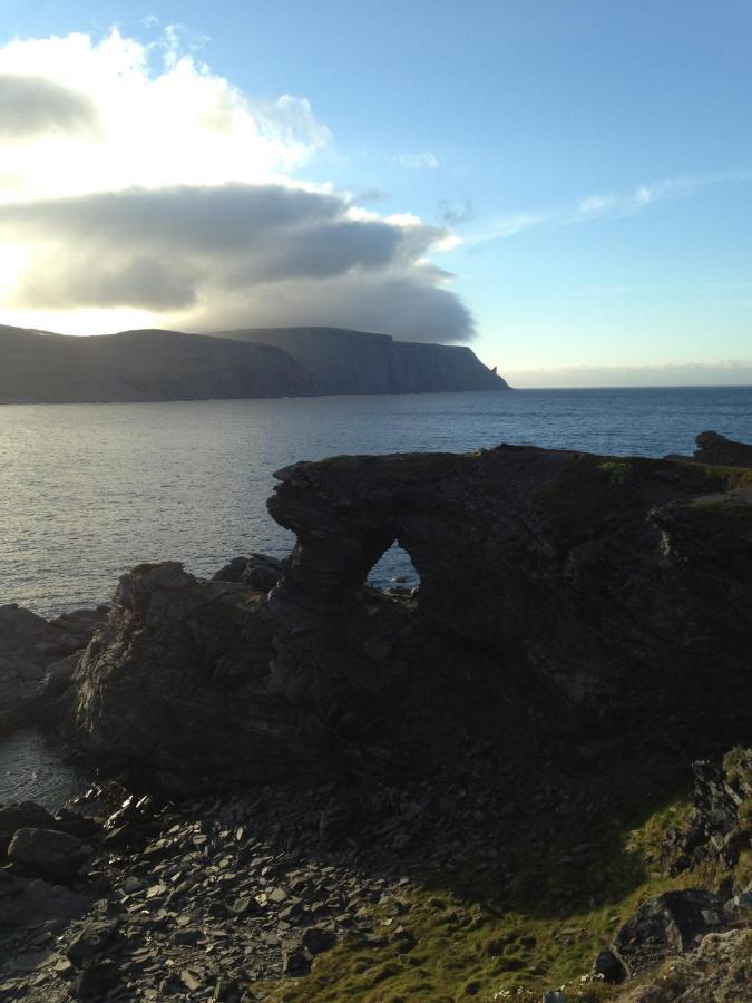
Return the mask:
<path id="1" fill-rule="evenodd" d="M 0 603 L 49 616 L 107 601 L 143 561 L 209 575 L 283 556 L 265 501 L 300 459 L 500 442 L 663 456 L 704 429 L 751 441 L 752 387 L 0 407 Z M 410 575 L 397 551 L 372 573 Z"/>

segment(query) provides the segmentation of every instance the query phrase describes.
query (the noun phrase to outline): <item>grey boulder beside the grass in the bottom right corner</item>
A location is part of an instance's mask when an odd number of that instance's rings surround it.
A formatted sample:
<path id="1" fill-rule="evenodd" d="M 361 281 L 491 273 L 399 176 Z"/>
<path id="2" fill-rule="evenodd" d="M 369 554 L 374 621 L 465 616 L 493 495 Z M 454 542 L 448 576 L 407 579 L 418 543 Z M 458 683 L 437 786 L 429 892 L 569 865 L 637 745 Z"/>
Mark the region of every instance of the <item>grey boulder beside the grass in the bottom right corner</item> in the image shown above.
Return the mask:
<path id="1" fill-rule="evenodd" d="M 722 925 L 723 900 L 703 888 L 666 892 L 642 905 L 619 928 L 612 952 L 628 975 L 695 947 Z"/>

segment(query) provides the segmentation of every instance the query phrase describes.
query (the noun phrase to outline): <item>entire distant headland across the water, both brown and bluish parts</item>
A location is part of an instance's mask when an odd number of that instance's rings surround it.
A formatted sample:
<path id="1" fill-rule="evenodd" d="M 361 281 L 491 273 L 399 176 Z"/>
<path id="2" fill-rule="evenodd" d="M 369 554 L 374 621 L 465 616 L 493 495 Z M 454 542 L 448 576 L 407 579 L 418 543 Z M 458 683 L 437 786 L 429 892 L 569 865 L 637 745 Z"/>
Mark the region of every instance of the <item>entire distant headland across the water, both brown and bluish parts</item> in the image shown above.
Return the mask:
<path id="1" fill-rule="evenodd" d="M 0 324 L 0 403 L 506 389 L 468 348 L 339 328 L 81 338 Z"/>

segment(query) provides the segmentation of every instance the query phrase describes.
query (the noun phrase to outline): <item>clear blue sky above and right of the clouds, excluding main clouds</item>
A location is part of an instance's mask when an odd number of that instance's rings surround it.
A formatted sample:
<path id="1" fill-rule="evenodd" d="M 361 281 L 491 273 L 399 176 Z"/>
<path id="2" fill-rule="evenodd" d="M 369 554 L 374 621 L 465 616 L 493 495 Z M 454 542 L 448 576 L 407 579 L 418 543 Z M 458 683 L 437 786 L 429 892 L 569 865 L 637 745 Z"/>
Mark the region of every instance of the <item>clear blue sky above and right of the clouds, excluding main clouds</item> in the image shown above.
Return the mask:
<path id="1" fill-rule="evenodd" d="M 3 14 L 0 47 L 96 41 L 114 25 L 156 46 L 179 25 L 180 52 L 248 98 L 305 99 L 316 139 L 275 176 L 433 227 L 408 281 L 428 281 L 423 255 L 452 273 L 430 282 L 518 386 L 752 379 L 749 2 L 99 0 Z M 361 327 L 379 322 L 368 303 Z"/>

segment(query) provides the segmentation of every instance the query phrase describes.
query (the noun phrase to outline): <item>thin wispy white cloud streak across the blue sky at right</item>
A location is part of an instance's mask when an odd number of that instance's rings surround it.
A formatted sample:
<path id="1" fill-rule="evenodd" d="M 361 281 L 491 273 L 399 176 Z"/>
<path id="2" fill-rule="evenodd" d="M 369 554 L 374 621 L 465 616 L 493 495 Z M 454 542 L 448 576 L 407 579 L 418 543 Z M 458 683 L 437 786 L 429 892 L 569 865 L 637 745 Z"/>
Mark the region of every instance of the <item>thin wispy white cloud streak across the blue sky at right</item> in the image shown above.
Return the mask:
<path id="1" fill-rule="evenodd" d="M 575 205 L 510 213 L 495 220 L 487 231 L 466 237 L 466 241 L 469 244 L 484 244 L 489 241 L 507 240 L 530 230 L 557 230 L 596 220 L 624 218 L 661 202 L 686 198 L 703 188 L 751 179 L 752 171 L 748 169 L 664 178 L 638 185 L 632 192 L 622 194 L 588 195 Z"/>

